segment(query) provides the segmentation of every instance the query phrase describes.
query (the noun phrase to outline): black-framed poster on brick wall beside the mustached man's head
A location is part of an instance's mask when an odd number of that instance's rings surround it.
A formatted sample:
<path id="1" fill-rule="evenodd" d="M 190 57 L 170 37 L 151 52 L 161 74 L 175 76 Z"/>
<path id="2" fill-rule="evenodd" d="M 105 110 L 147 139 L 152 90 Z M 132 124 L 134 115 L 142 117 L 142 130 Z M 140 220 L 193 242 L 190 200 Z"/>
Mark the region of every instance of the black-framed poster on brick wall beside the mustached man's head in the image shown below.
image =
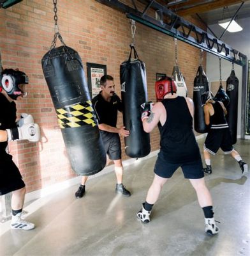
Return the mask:
<path id="1" fill-rule="evenodd" d="M 94 96 L 98 95 L 101 87 L 100 79 L 106 74 L 106 65 L 87 62 L 87 84 L 89 86 L 89 93 L 91 94 L 91 99 L 94 98 Z"/>

